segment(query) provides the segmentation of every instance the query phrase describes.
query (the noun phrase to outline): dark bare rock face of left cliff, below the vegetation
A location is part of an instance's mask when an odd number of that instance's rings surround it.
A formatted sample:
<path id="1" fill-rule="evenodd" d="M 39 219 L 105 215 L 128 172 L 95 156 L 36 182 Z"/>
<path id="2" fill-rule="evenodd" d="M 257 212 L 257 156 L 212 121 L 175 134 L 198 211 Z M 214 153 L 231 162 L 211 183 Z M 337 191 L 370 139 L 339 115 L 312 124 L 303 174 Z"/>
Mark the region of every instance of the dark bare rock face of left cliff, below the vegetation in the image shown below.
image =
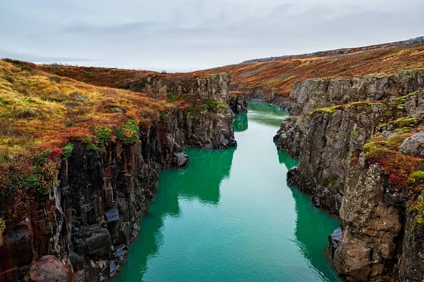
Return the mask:
<path id="1" fill-rule="evenodd" d="M 29 207 L 5 218 L 0 281 L 98 281 L 116 273 L 153 200 L 158 172 L 187 164 L 184 147 L 237 144 L 228 75 L 196 81 L 192 95 L 209 106 L 161 114 L 160 121 L 140 125 L 134 145 L 111 140 L 99 152 L 73 142 L 57 186 L 47 195 L 35 193 Z"/>

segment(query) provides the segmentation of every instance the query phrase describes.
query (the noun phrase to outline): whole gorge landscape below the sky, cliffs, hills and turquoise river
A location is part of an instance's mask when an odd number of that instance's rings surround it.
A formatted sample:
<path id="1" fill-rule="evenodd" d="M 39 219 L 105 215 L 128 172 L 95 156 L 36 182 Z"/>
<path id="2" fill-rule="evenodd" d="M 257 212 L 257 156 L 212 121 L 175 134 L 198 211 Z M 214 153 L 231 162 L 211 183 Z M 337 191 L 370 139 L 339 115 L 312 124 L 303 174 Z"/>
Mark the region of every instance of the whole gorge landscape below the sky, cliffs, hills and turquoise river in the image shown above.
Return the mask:
<path id="1" fill-rule="evenodd" d="M 0 282 L 424 281 L 423 42 L 0 59 Z"/>

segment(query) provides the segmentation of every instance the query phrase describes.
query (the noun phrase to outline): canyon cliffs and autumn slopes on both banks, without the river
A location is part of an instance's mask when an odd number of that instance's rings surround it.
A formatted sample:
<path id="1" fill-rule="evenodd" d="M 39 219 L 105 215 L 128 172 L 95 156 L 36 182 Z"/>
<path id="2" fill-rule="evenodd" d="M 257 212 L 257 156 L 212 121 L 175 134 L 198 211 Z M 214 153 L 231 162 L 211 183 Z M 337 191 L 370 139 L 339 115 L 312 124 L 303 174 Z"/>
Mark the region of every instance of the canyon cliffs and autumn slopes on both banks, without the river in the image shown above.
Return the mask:
<path id="1" fill-rule="evenodd" d="M 341 220 L 327 246 L 338 276 L 422 281 L 418 39 L 186 74 L 1 60 L 0 281 L 115 276 L 160 171 L 187 166 L 184 148 L 236 147 L 248 99 L 290 110 L 273 140 L 298 159 L 288 185 Z"/>

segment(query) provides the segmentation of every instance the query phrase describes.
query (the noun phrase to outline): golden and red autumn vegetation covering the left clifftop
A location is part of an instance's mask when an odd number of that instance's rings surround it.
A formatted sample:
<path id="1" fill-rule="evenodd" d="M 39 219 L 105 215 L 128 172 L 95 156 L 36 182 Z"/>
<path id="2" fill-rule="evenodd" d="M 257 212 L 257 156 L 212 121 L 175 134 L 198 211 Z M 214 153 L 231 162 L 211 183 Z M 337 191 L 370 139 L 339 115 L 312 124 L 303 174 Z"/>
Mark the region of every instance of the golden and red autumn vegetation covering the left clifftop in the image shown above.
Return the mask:
<path id="1" fill-rule="evenodd" d="M 139 142 L 139 126 L 160 122 L 169 111 L 226 106 L 190 92 L 193 80 L 188 74 L 0 60 L 0 235 L 2 218 L 18 216 L 55 187 L 75 144 L 101 154 L 110 140 Z M 155 83 L 160 85 L 151 87 Z"/>

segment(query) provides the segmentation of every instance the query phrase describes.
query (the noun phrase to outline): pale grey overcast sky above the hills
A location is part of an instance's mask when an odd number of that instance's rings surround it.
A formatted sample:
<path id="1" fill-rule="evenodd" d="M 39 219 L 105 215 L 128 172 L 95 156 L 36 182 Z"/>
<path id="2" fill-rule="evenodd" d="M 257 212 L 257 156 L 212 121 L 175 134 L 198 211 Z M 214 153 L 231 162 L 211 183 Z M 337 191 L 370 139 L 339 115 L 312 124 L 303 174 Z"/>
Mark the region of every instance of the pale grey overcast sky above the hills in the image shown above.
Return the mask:
<path id="1" fill-rule="evenodd" d="M 194 71 L 424 35 L 423 0 L 0 0 L 0 57 Z"/>

